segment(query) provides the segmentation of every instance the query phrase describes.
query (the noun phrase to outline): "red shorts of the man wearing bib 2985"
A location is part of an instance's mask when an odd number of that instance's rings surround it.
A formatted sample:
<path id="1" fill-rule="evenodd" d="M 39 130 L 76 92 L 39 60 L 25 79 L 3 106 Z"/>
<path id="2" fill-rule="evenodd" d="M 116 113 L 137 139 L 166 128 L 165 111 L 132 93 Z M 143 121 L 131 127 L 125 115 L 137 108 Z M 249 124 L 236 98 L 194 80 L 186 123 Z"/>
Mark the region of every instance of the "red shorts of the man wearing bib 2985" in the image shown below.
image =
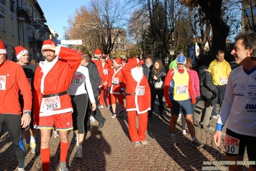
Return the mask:
<path id="1" fill-rule="evenodd" d="M 73 129 L 72 112 L 39 118 L 40 129 L 53 129 L 54 125 L 56 131 L 68 131 Z"/>

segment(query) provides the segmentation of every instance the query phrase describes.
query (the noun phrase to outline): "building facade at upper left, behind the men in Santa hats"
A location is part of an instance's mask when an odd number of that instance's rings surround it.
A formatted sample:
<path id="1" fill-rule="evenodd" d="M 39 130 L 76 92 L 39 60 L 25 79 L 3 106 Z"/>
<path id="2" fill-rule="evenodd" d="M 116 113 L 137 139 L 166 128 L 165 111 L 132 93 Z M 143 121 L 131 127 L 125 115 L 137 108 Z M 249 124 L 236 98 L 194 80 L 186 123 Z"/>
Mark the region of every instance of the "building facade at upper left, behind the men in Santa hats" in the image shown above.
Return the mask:
<path id="1" fill-rule="evenodd" d="M 52 37 L 46 18 L 37 0 L 0 0 L 0 38 L 9 60 L 17 61 L 13 49 L 22 45 L 30 53 L 30 60 L 44 60 L 42 42 Z M 55 37 L 56 38 L 56 37 Z"/>

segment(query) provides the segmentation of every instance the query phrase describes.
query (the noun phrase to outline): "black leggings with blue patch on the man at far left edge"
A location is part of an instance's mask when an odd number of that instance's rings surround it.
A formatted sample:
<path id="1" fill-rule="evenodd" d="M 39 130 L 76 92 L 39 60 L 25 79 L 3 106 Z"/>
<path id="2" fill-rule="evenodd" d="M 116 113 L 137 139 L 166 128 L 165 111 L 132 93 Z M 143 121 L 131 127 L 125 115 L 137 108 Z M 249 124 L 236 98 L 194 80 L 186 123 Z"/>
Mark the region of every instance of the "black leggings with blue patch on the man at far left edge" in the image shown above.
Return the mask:
<path id="1" fill-rule="evenodd" d="M 26 153 L 21 138 L 21 115 L 0 114 L 0 138 L 4 126 L 7 128 L 12 145 L 15 148 L 16 157 L 19 163 L 18 167 L 24 168 Z"/>

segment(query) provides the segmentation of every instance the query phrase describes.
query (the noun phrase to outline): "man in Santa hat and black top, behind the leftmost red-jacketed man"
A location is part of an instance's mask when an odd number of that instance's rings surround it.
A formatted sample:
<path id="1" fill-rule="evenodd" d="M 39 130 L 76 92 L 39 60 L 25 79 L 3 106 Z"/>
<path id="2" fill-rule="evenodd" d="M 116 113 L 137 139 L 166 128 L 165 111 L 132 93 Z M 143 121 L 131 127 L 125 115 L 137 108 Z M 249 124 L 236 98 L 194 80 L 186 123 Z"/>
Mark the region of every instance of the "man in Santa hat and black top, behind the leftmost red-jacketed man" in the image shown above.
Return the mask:
<path id="1" fill-rule="evenodd" d="M 21 65 L 22 69 L 24 70 L 28 78 L 28 83 L 30 83 L 31 90 L 33 90 L 33 81 L 34 81 L 35 69 L 37 68 L 37 65 L 28 63 L 28 60 L 30 57 L 27 49 L 25 49 L 21 45 L 14 47 L 14 49 L 15 49 L 17 60 L 18 60 L 17 63 L 19 63 L 19 65 Z M 21 94 L 19 94 L 19 102 L 21 104 L 21 109 L 23 110 L 24 101 L 22 99 Z M 37 143 L 35 142 L 36 134 L 37 134 L 37 129 L 34 129 L 33 127 L 33 105 L 32 105 L 31 122 L 30 122 L 30 145 L 28 145 L 26 142 L 25 129 L 22 129 L 22 142 L 26 152 L 28 152 L 30 149 L 32 153 L 38 152 Z"/>

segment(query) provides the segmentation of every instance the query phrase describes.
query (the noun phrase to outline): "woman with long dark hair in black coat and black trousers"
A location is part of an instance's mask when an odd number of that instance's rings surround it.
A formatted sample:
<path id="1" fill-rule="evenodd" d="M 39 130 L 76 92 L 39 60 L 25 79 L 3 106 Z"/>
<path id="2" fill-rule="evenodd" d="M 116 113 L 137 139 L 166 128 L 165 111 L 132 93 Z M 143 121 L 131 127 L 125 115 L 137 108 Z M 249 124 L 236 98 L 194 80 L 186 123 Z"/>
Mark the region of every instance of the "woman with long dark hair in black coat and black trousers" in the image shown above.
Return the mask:
<path id="1" fill-rule="evenodd" d="M 163 111 L 164 111 L 164 104 L 163 104 L 163 96 L 164 96 L 164 79 L 166 78 L 166 70 L 162 61 L 156 60 L 153 64 L 153 68 L 151 70 L 150 79 L 149 79 L 149 86 L 151 90 L 151 110 L 148 112 L 148 117 L 152 117 L 152 113 L 154 111 L 154 104 L 155 99 L 158 97 L 159 102 L 159 114 L 162 118 Z M 161 88 L 155 88 L 155 84 L 162 81 Z"/>

